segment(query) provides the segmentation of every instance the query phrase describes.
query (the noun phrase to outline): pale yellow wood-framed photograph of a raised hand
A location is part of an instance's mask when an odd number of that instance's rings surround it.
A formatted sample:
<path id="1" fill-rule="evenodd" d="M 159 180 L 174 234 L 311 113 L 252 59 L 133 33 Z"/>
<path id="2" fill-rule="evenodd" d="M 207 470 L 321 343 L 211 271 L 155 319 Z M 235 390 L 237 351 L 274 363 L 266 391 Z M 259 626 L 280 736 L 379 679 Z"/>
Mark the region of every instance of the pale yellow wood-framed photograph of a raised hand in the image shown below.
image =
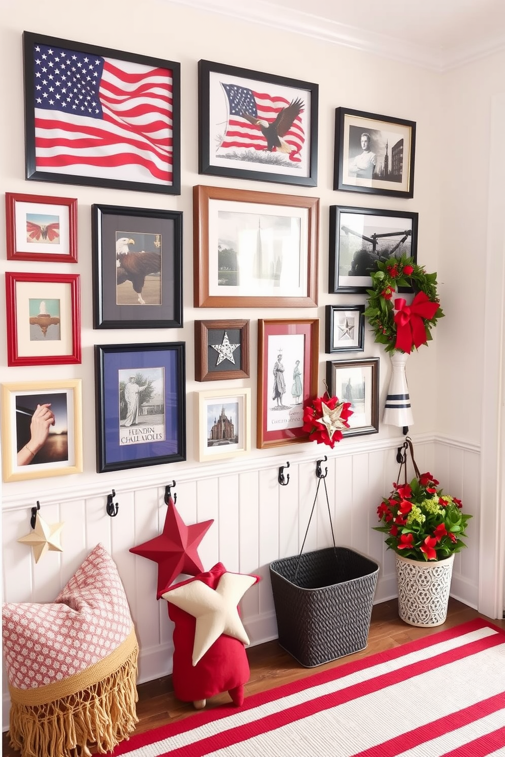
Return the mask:
<path id="1" fill-rule="evenodd" d="M 4 481 L 83 472 L 80 378 L 2 384 Z"/>

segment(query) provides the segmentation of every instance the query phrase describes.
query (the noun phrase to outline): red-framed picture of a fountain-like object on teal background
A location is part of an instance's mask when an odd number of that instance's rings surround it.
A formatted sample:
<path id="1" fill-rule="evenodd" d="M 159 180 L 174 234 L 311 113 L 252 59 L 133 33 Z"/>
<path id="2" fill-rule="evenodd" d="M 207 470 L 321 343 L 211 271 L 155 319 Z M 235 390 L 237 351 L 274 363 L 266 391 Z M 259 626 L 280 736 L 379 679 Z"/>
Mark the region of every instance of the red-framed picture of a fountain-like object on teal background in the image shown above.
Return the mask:
<path id="1" fill-rule="evenodd" d="M 81 362 L 79 275 L 5 273 L 8 366 Z"/>

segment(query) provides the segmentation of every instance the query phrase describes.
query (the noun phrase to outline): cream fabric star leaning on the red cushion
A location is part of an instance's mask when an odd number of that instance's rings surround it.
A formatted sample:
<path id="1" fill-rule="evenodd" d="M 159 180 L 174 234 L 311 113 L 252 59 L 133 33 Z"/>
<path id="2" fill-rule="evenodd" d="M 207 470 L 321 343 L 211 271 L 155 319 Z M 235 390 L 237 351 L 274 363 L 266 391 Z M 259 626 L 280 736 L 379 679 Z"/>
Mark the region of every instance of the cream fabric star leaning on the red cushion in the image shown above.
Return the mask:
<path id="1" fill-rule="evenodd" d="M 215 590 L 197 579 L 161 595 L 196 618 L 193 666 L 221 634 L 248 645 L 248 634 L 238 615 L 237 605 L 256 581 L 257 577 L 252 575 L 223 573 Z"/>

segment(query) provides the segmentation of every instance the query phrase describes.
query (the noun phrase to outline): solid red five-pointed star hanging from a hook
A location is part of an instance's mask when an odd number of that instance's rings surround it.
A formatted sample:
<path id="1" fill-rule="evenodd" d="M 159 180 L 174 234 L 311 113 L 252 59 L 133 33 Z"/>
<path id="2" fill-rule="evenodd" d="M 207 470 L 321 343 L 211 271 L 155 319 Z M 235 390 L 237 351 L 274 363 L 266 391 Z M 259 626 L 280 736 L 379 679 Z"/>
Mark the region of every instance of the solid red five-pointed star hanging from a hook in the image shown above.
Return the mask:
<path id="1" fill-rule="evenodd" d="M 198 575 L 204 571 L 196 550 L 213 523 L 214 520 L 210 520 L 185 525 L 170 497 L 162 533 L 138 547 L 131 547 L 129 551 L 134 555 L 157 562 L 157 599 L 181 573 Z"/>

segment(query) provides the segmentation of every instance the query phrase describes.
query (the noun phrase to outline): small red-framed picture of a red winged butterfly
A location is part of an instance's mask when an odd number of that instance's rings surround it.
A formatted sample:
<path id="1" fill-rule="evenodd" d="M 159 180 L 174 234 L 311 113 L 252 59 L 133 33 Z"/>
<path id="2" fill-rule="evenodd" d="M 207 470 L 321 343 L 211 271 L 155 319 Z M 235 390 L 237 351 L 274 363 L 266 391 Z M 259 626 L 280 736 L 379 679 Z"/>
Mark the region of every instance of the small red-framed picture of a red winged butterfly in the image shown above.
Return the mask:
<path id="1" fill-rule="evenodd" d="M 77 262 L 77 201 L 5 192 L 7 260 Z"/>

